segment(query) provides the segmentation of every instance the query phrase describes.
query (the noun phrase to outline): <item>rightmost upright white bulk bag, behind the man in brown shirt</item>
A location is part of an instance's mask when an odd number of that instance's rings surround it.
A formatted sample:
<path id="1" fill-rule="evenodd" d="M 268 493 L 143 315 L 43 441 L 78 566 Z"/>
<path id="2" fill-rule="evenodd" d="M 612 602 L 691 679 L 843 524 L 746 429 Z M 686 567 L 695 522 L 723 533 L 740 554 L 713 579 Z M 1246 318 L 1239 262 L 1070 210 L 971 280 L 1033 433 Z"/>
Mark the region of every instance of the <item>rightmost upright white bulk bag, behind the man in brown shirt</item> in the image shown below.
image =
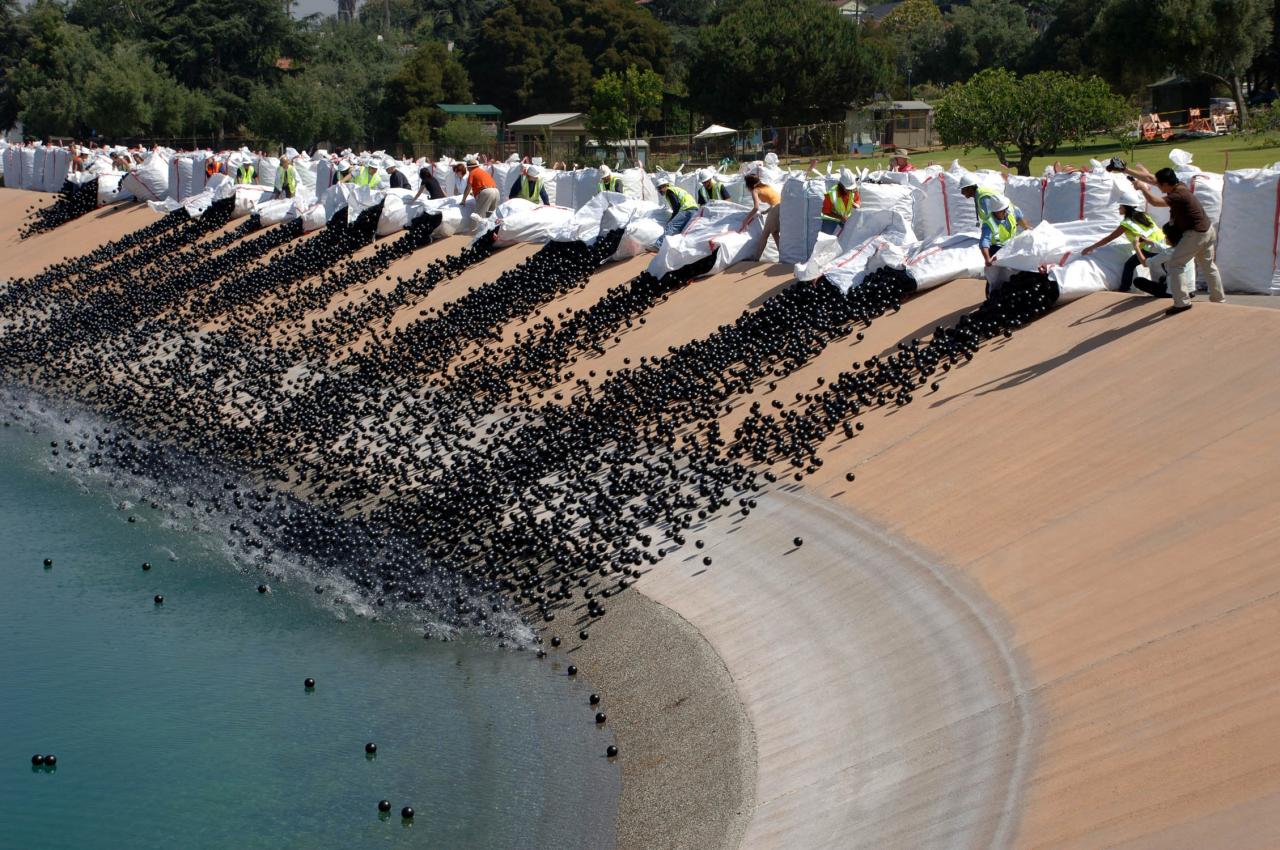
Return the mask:
<path id="1" fill-rule="evenodd" d="M 1280 294 L 1280 172 L 1228 172 L 1217 230 L 1217 269 L 1229 292 Z"/>

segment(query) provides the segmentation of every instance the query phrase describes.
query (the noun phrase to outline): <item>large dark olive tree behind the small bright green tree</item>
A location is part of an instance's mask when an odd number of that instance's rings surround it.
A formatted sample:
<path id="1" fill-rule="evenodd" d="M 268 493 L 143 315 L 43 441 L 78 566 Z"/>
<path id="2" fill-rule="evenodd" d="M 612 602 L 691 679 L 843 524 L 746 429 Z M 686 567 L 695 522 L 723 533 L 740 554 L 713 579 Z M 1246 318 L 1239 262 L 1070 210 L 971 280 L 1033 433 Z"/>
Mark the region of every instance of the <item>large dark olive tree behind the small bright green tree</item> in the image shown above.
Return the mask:
<path id="1" fill-rule="evenodd" d="M 467 47 L 476 96 L 508 115 L 586 110 L 591 81 L 630 65 L 666 70 L 667 31 L 625 0 L 508 0 Z"/>

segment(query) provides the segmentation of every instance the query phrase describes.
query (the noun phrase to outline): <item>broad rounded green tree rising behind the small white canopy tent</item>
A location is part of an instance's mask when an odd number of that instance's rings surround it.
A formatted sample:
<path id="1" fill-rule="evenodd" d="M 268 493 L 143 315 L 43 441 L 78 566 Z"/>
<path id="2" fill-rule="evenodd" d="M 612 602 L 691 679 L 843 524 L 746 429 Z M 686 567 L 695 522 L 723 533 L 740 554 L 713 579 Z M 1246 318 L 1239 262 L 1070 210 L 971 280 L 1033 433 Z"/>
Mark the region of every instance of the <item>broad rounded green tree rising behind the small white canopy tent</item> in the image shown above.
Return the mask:
<path id="1" fill-rule="evenodd" d="M 844 118 L 888 79 L 854 20 L 822 0 L 744 0 L 699 33 L 695 108 L 721 120 Z"/>

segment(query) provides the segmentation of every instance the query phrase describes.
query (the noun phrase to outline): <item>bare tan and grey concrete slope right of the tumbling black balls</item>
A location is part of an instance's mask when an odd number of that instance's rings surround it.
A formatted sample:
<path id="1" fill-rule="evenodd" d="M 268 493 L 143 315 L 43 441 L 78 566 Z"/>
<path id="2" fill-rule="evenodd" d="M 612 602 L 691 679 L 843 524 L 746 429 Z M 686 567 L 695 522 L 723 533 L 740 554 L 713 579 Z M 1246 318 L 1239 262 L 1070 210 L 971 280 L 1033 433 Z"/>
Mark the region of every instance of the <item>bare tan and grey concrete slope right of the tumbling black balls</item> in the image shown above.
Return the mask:
<path id="1" fill-rule="evenodd" d="M 925 293 L 762 397 L 979 298 Z M 712 567 L 640 582 L 742 695 L 742 846 L 1275 845 L 1280 312 L 1164 306 L 988 346 L 718 522 Z"/>

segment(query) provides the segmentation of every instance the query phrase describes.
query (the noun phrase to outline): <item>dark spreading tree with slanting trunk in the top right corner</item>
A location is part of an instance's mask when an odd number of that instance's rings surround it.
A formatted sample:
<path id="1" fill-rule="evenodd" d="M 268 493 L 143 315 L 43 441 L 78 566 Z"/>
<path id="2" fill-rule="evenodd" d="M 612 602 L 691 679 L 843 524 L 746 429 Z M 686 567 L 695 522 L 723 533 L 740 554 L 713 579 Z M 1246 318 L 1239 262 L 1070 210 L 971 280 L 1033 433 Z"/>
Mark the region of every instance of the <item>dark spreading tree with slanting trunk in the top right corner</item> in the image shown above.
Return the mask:
<path id="1" fill-rule="evenodd" d="M 1274 12 L 1272 0 L 1110 0 L 1094 32 L 1112 63 L 1174 68 L 1225 86 L 1244 123 L 1244 76 L 1271 46 Z"/>

